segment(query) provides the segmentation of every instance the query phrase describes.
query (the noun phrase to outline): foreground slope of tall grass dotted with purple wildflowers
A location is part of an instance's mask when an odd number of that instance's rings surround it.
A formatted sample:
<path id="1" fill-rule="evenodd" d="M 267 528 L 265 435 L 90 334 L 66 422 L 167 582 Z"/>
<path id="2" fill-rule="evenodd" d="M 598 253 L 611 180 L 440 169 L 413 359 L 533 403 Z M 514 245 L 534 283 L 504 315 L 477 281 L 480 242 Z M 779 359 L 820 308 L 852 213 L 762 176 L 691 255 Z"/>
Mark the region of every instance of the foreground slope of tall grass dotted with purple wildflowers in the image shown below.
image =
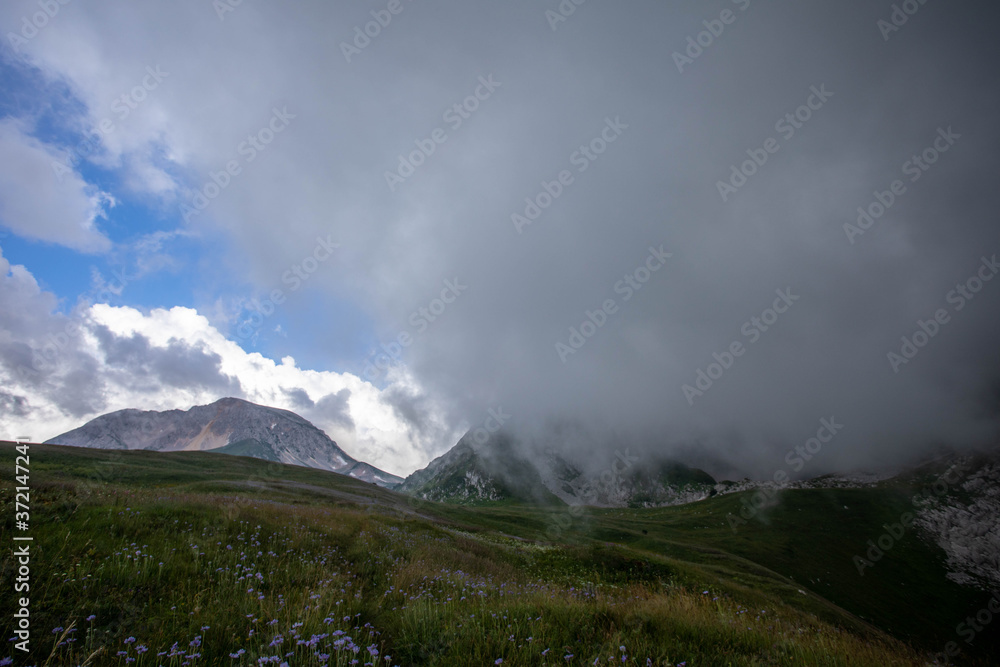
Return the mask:
<path id="1" fill-rule="evenodd" d="M 27 662 L 7 649 L 18 664 L 923 664 L 623 547 L 171 488 L 66 482 L 34 499 L 34 635 Z M 11 502 L 5 490 L 5 517 Z M 9 552 L 2 567 L 8 580 Z"/>

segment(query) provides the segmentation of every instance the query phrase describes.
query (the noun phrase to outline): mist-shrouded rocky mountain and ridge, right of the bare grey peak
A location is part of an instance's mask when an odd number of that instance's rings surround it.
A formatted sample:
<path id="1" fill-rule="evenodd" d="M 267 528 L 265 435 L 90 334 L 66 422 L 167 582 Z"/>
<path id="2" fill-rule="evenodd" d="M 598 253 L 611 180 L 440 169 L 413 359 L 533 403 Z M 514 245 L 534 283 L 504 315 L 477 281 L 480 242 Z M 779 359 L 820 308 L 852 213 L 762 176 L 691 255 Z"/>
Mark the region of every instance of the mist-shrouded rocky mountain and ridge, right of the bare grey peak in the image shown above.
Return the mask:
<path id="1" fill-rule="evenodd" d="M 640 458 L 628 449 L 616 451 L 600 472 L 591 467 L 585 474 L 567 460 L 573 454 L 544 448 L 533 454 L 530 445 L 503 432 L 481 443 L 467 434 L 396 490 L 426 500 L 472 505 L 509 501 L 631 508 L 741 494 L 745 504 L 727 518 L 735 530 L 780 505 L 778 494 L 785 490 L 857 489 L 857 497 L 865 498 L 887 490 L 907 495 L 908 489 L 922 488 L 913 496 L 914 522 L 943 550 L 948 578 L 983 590 L 1000 588 L 1000 449 L 947 451 L 893 471 L 823 475 L 783 485 L 750 479 L 717 482 L 697 468 L 669 459 Z M 942 486 L 942 480 L 948 483 Z M 946 488 L 952 493 L 941 490 Z"/>

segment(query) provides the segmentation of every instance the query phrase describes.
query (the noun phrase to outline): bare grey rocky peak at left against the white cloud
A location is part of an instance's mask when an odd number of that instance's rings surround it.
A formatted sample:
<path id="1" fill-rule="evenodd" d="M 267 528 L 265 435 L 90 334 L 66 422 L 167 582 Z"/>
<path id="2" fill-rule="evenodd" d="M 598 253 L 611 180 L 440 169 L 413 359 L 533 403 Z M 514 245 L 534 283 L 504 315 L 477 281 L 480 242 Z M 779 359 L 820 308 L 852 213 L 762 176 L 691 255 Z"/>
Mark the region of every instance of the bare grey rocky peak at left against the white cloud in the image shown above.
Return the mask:
<path id="1" fill-rule="evenodd" d="M 403 481 L 351 458 L 326 433 L 294 412 L 238 398 L 223 398 L 189 410 L 119 410 L 46 443 L 99 449 L 211 451 L 330 470 L 384 487 Z"/>

